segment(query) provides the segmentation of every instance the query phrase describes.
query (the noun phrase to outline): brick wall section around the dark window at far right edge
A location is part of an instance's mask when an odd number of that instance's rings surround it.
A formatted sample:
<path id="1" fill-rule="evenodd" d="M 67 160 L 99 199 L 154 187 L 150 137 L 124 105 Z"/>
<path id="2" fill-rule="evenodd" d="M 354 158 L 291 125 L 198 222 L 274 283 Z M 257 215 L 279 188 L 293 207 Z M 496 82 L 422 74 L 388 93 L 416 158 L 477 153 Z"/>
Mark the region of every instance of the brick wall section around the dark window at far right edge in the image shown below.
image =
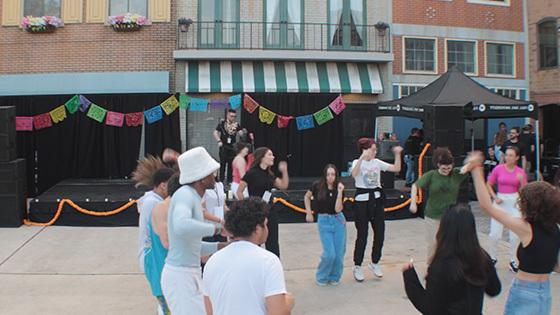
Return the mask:
<path id="1" fill-rule="evenodd" d="M 540 104 L 560 103 L 560 67 L 539 69 L 537 23 L 546 17 L 558 18 L 560 25 L 558 0 L 531 0 L 528 7 L 530 93 L 531 99 Z"/>

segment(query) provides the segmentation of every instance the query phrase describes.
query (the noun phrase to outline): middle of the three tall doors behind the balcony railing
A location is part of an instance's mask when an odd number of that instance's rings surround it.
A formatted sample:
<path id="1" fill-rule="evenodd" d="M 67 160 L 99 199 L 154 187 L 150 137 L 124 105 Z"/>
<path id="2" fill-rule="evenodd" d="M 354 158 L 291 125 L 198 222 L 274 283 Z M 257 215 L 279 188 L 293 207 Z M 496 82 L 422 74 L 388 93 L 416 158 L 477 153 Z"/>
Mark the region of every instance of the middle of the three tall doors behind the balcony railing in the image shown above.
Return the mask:
<path id="1" fill-rule="evenodd" d="M 303 48 L 303 1 L 266 0 L 265 47 Z"/>

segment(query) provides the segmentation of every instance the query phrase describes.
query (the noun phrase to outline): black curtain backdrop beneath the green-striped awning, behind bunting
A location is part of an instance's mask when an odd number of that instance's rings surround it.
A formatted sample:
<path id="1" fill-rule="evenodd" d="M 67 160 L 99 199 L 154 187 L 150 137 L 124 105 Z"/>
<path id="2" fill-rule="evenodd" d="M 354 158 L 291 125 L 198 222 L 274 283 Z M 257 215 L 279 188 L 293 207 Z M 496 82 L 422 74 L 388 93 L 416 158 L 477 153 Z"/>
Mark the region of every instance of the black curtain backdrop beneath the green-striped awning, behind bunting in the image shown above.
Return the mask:
<path id="1" fill-rule="evenodd" d="M 285 116 L 313 114 L 328 106 L 338 94 L 251 93 L 260 105 Z M 334 119 L 322 126 L 315 121 L 315 128 L 297 130 L 295 119 L 288 128 L 278 128 L 276 119 L 271 125 L 260 122 L 259 110 L 253 114 L 243 110 L 241 126 L 255 135 L 255 147 L 272 149 L 276 162 L 288 161 L 290 176 L 320 176 L 328 163 L 343 169 L 342 115 L 333 113 Z"/>

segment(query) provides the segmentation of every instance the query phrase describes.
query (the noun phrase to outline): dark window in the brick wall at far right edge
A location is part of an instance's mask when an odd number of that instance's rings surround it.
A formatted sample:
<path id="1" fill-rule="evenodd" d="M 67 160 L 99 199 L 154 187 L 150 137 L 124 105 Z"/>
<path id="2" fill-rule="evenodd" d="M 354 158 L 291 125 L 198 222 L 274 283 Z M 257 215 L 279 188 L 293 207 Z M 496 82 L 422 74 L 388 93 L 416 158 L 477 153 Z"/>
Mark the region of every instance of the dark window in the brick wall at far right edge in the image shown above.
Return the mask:
<path id="1" fill-rule="evenodd" d="M 548 20 L 537 25 L 539 41 L 539 68 L 558 66 L 558 33 L 556 20 Z"/>

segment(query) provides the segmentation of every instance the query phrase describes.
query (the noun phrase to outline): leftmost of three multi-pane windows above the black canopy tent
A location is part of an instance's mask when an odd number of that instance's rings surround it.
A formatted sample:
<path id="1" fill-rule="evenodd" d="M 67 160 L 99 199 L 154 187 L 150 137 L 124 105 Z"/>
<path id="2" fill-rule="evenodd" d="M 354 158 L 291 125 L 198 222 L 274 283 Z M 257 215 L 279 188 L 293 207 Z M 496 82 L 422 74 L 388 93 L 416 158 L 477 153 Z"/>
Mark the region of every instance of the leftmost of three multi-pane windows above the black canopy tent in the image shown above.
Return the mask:
<path id="1" fill-rule="evenodd" d="M 404 39 L 405 71 L 436 72 L 436 40 Z"/>

